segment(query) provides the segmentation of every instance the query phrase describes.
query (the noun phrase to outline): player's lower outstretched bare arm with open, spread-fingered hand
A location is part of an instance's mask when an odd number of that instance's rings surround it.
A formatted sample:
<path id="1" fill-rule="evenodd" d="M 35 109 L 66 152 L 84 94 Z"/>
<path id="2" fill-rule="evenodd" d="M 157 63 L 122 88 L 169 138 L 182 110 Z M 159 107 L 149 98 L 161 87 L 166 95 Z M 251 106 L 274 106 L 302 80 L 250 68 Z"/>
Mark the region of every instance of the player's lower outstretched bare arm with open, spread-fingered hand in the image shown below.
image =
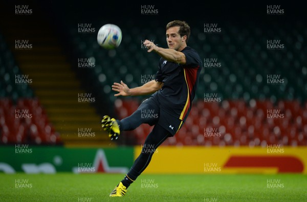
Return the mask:
<path id="1" fill-rule="evenodd" d="M 112 90 L 118 92 L 114 96 L 140 96 L 155 93 L 162 86 L 163 82 L 152 80 L 142 86 L 129 88 L 123 81 L 120 81 L 112 85 Z"/>

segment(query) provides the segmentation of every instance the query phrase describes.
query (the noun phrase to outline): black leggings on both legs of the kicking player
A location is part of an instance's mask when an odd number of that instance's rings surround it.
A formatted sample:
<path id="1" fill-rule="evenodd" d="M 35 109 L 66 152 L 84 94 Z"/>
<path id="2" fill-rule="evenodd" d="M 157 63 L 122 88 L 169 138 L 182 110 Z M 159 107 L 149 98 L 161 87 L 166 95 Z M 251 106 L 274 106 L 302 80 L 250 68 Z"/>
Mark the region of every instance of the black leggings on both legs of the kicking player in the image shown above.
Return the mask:
<path id="1" fill-rule="evenodd" d="M 127 173 L 128 177 L 133 181 L 145 170 L 148 166 L 153 153 L 156 149 L 168 138 L 172 137 L 170 132 L 160 126 L 157 120 L 144 120 L 141 117 L 142 110 L 144 109 L 155 109 L 159 111 L 159 108 L 156 108 L 156 104 L 152 102 L 143 102 L 140 107 L 129 117 L 118 120 L 120 130 L 133 130 L 137 128 L 142 123 L 147 123 L 149 125 L 155 125 L 152 128 L 152 131 L 148 134 L 145 143 L 142 147 L 141 154 L 138 156 L 133 166 L 130 168 Z"/>

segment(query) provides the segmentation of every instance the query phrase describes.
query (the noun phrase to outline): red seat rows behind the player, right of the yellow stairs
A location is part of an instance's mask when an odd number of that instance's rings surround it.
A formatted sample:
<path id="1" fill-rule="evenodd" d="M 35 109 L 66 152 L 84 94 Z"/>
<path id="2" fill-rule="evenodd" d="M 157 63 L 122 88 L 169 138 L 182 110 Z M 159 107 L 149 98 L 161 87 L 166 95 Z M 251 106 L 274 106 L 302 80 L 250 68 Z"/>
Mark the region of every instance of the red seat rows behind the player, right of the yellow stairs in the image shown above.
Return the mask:
<path id="1" fill-rule="evenodd" d="M 140 104 L 137 99 L 118 99 L 115 103 L 120 118 L 132 114 Z M 176 136 L 167 139 L 163 145 L 306 146 L 307 103 L 304 105 L 297 100 L 281 100 L 277 105 L 269 100 L 251 100 L 249 103 L 243 100 L 226 100 L 210 104 L 199 100 L 194 102 L 189 117 Z M 268 118 L 267 109 L 280 109 L 280 114 L 284 115 L 284 118 Z M 142 124 L 139 128 L 124 134 L 134 136 L 136 144 L 142 144 L 152 127 Z M 208 128 L 209 131 L 216 131 L 218 135 L 205 135 Z"/>

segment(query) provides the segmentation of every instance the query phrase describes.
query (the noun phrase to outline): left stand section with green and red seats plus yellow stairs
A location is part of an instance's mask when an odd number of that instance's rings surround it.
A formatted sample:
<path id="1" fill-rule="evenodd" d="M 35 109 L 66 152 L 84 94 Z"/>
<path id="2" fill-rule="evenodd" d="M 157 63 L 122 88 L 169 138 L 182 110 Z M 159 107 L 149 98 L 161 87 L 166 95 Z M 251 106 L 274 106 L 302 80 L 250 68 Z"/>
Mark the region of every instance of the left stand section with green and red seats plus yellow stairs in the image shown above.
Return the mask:
<path id="1" fill-rule="evenodd" d="M 33 15 L 6 11 L 10 20 L 1 22 L 1 143 L 109 144 L 95 107 L 78 100 L 91 92 L 82 88 L 43 10 L 31 6 Z M 31 50 L 16 49 L 16 39 L 28 40 Z M 16 84 L 16 75 L 32 82 Z M 15 118 L 15 109 L 27 110 L 28 117 Z"/>

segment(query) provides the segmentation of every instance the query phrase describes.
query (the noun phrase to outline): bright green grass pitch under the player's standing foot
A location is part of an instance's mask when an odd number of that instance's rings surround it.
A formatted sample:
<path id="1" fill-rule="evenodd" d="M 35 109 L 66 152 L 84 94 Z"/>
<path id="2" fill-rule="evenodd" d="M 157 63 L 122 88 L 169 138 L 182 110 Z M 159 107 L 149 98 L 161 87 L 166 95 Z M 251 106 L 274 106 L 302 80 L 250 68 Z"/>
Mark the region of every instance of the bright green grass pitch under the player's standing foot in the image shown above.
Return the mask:
<path id="1" fill-rule="evenodd" d="M 142 174 L 109 197 L 124 174 L 0 174 L 0 201 L 307 201 L 302 174 Z"/>

